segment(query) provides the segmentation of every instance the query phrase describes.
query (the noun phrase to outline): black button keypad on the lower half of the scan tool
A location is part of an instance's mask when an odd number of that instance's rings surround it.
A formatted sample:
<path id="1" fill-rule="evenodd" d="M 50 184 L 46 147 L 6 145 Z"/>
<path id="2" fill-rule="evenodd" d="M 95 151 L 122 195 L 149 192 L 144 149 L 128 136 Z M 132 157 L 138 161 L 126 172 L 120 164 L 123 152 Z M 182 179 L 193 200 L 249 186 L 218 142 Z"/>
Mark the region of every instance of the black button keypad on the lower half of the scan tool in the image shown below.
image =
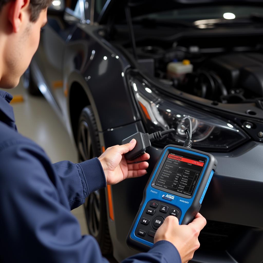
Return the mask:
<path id="1" fill-rule="evenodd" d="M 157 207 L 158 209 L 156 209 Z M 181 210 L 174 205 L 160 200 L 149 201 L 136 226 L 135 236 L 153 243 L 156 230 L 163 224 L 163 221 L 169 215 L 176 216 L 179 220 L 181 217 Z"/>

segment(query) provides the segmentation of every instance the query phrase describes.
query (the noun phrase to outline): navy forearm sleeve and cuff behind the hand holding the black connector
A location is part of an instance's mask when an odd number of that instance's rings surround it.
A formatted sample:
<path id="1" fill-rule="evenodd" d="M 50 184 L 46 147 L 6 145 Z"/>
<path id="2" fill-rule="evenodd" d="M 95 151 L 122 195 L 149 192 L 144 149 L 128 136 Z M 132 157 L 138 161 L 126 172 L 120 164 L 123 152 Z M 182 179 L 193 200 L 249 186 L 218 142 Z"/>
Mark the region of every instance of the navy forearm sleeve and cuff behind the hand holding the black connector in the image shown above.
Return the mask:
<path id="1" fill-rule="evenodd" d="M 79 164 L 60 161 L 53 164 L 53 168 L 62 181 L 71 209 L 82 205 L 93 191 L 106 187 L 106 178 L 98 158 Z"/>

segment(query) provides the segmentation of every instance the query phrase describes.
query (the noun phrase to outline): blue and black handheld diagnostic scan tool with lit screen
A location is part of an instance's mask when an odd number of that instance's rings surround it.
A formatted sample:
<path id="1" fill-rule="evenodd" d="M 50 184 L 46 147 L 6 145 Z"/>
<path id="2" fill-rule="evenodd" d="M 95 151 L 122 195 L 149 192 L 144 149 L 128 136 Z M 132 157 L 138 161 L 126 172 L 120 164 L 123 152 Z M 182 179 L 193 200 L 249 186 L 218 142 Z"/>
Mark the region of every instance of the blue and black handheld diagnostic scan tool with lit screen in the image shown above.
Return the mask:
<path id="1" fill-rule="evenodd" d="M 217 161 L 209 153 L 191 149 L 188 134 L 185 146 L 167 145 L 155 165 L 127 236 L 131 249 L 149 250 L 167 216 L 176 216 L 179 224 L 187 225 L 201 208 Z"/>

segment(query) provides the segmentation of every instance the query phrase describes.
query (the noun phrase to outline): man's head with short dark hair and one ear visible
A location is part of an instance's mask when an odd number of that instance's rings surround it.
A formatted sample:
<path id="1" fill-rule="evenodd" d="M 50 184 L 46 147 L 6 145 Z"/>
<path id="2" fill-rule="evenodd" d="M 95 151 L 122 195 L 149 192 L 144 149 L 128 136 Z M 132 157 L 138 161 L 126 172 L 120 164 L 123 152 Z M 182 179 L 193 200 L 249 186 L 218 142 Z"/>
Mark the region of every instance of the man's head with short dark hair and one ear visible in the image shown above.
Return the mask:
<path id="1" fill-rule="evenodd" d="M 13 88 L 28 68 L 52 0 L 0 0 L 0 87 Z"/>

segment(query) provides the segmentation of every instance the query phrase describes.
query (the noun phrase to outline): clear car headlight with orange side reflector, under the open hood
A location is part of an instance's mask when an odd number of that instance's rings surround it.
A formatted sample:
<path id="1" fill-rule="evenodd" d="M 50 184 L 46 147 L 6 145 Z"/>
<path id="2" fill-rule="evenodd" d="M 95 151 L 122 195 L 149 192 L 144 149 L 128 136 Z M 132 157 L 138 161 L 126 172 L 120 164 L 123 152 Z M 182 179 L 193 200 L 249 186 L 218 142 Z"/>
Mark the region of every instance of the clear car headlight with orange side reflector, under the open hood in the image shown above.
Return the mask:
<path id="1" fill-rule="evenodd" d="M 184 130 L 189 128 L 189 119 L 192 123 L 195 149 L 229 151 L 249 139 L 236 124 L 166 97 L 140 77 L 129 75 L 129 82 L 148 132 L 175 129 L 174 133 L 155 141 L 153 143 L 155 146 L 183 145 L 186 139 Z"/>

